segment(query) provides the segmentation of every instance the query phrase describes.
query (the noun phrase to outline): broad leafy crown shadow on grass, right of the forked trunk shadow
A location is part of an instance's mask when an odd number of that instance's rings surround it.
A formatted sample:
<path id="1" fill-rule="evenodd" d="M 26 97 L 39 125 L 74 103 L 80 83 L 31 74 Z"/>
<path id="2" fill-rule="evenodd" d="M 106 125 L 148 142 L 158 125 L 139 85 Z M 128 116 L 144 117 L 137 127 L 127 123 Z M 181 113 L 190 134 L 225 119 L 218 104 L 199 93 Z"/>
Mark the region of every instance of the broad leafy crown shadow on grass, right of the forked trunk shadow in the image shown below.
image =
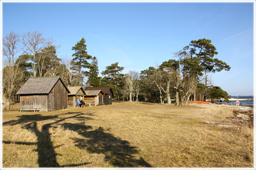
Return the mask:
<path id="1" fill-rule="evenodd" d="M 138 150 L 130 146 L 125 140 L 114 137 L 111 133 L 106 133 L 101 127 L 88 131 L 90 126 L 74 123 L 61 124 L 65 129 L 76 131 L 85 138 L 72 138 L 76 146 L 86 149 L 90 153 L 104 154 L 106 162 L 116 167 L 151 167 L 143 158 L 135 158 Z"/>

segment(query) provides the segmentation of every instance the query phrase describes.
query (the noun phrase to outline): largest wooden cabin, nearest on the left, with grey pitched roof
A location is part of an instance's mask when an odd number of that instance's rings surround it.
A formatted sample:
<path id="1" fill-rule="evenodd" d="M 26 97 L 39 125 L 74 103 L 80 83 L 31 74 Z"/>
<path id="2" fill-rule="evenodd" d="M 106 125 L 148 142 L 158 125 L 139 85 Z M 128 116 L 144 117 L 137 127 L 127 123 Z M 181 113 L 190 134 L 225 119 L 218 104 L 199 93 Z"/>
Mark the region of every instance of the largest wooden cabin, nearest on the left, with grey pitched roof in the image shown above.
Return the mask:
<path id="1" fill-rule="evenodd" d="M 30 78 L 16 93 L 21 111 L 57 111 L 67 108 L 68 93 L 60 77 Z"/>

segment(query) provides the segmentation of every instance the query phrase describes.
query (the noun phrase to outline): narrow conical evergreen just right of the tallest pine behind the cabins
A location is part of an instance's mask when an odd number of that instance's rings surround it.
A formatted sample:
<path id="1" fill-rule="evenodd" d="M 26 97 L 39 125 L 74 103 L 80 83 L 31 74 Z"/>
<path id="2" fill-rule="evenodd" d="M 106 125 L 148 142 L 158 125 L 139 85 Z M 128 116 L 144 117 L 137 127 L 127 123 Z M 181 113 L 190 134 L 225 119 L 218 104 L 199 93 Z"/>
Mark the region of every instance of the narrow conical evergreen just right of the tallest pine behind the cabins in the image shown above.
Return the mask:
<path id="1" fill-rule="evenodd" d="M 88 77 L 87 86 L 99 87 L 101 78 L 99 77 L 98 60 L 95 56 L 92 58 L 92 63 L 89 68 L 90 70 L 86 72 Z"/>

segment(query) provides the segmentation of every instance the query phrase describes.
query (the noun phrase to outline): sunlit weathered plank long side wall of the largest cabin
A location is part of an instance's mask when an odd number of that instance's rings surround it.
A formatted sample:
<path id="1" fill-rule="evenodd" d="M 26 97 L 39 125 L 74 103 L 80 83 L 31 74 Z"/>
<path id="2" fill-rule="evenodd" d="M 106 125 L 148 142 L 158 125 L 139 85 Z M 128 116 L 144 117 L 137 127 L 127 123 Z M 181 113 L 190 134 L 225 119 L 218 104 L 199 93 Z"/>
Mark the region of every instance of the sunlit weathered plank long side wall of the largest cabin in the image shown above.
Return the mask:
<path id="1" fill-rule="evenodd" d="M 20 108 L 33 111 L 40 107 L 40 111 L 47 111 L 47 95 L 20 95 Z"/>

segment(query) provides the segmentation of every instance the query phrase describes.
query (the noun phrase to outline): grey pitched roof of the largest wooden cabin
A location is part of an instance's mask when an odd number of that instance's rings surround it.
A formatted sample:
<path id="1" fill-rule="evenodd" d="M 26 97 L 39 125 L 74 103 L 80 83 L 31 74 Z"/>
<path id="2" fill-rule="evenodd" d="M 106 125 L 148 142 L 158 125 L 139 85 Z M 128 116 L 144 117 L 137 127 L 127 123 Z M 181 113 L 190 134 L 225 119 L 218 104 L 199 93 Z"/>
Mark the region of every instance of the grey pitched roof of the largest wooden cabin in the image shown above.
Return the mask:
<path id="1" fill-rule="evenodd" d="M 60 80 L 63 83 L 59 76 L 30 78 L 25 84 L 23 84 L 23 86 L 19 89 L 19 91 L 16 94 L 49 94 L 49 92 L 52 90 L 52 88 L 55 86 L 58 80 Z M 63 85 L 65 86 L 64 83 Z M 68 90 L 66 86 L 65 88 Z M 68 92 L 70 91 L 68 90 Z"/>

